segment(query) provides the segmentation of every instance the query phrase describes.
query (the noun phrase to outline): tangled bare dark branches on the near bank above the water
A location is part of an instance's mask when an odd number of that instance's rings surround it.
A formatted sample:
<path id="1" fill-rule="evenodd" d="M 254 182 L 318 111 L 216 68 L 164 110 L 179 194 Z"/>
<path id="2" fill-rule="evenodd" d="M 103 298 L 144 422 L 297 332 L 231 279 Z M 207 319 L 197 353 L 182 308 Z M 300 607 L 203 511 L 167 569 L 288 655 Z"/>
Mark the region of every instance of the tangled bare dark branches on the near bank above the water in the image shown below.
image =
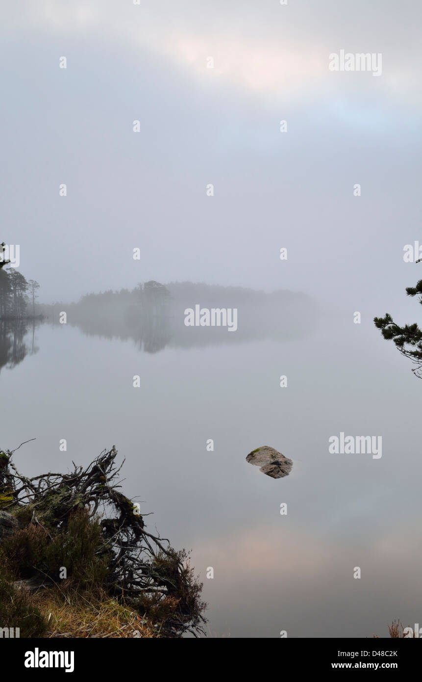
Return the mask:
<path id="1" fill-rule="evenodd" d="M 29 524 L 40 527 L 51 542 L 70 532 L 75 514 L 86 514 L 89 522 L 100 528 L 95 555 L 106 558 L 102 587 L 159 621 L 162 636 L 203 632 L 206 605 L 200 601 L 202 584 L 193 574 L 188 554 L 172 548 L 166 538 L 149 533 L 138 506 L 119 491 L 124 460 L 117 467 L 114 445 L 86 469 L 72 462 L 71 473 L 50 472 L 31 478 L 22 475 L 12 462 L 14 451 L 0 452 L 2 511 L 18 519 L 20 528 Z"/>

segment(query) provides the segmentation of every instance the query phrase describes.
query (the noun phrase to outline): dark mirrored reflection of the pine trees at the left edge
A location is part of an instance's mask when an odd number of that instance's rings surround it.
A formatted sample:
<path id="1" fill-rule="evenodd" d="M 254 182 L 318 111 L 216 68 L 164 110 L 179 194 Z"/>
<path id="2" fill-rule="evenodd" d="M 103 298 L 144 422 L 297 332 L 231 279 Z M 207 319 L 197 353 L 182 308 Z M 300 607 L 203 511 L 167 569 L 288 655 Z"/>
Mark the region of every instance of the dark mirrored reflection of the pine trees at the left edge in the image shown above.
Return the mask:
<path id="1" fill-rule="evenodd" d="M 31 353 L 37 353 L 35 346 L 35 325 L 39 321 L 0 321 L 0 371 L 2 367 L 12 368 Z"/>

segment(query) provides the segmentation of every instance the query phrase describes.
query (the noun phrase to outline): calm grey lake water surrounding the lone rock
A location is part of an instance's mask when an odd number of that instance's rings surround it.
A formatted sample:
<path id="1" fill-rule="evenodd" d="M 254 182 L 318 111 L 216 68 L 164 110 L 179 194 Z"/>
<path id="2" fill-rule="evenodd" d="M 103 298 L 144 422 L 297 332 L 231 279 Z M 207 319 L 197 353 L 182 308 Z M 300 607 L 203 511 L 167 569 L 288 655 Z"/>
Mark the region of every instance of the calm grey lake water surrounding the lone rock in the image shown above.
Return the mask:
<path id="1" fill-rule="evenodd" d="M 35 475 L 115 444 L 147 524 L 192 548 L 210 636 L 386 636 L 393 618 L 421 622 L 422 384 L 410 366 L 370 323 L 332 314 L 296 338 L 198 332 L 151 353 L 69 324 L 3 330 L 1 447 L 36 438 L 15 455 Z M 382 436 L 382 458 L 329 454 L 340 431 Z M 292 473 L 247 464 L 259 445 Z"/>

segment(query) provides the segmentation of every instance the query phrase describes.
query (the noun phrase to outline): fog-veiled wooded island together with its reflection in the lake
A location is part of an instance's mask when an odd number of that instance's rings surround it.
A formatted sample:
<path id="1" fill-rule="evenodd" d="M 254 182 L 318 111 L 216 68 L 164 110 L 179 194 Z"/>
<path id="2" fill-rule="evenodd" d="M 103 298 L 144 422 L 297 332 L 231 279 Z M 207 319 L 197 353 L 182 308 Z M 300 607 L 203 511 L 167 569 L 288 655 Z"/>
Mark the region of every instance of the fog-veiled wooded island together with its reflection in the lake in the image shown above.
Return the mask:
<path id="1" fill-rule="evenodd" d="M 237 308 L 238 328 L 187 327 L 185 309 Z M 67 323 L 89 336 L 132 339 L 139 349 L 157 353 L 166 346 L 192 348 L 250 340 L 295 340 L 307 336 L 316 325 L 318 308 L 304 294 L 276 291 L 271 294 L 240 287 L 206 284 L 147 282 L 133 291 L 89 294 L 78 303 L 44 306 L 52 323 L 61 310 Z"/>

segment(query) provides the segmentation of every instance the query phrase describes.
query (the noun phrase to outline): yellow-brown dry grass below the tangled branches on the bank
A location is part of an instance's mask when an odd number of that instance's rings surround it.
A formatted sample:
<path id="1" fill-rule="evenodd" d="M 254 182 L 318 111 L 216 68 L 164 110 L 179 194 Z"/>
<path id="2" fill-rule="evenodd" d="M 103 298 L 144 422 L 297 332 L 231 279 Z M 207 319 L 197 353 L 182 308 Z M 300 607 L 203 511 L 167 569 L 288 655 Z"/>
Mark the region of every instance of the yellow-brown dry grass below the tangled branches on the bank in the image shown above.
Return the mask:
<path id="1" fill-rule="evenodd" d="M 48 622 L 47 638 L 157 638 L 158 628 L 106 593 L 47 589 L 31 601 Z"/>

